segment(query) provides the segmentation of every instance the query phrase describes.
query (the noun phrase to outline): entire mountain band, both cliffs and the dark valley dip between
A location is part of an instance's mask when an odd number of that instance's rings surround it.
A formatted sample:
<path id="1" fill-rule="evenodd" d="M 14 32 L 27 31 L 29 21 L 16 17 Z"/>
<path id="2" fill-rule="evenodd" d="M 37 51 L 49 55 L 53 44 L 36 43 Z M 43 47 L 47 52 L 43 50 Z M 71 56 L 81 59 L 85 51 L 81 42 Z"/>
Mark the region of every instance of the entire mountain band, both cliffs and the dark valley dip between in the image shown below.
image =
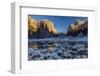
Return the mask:
<path id="1" fill-rule="evenodd" d="M 31 16 L 28 17 L 28 37 L 29 38 L 50 38 L 50 37 L 67 37 L 67 36 L 87 36 L 88 21 L 76 20 L 69 25 L 65 33 L 58 32 L 54 23 L 50 20 L 35 20 Z"/>

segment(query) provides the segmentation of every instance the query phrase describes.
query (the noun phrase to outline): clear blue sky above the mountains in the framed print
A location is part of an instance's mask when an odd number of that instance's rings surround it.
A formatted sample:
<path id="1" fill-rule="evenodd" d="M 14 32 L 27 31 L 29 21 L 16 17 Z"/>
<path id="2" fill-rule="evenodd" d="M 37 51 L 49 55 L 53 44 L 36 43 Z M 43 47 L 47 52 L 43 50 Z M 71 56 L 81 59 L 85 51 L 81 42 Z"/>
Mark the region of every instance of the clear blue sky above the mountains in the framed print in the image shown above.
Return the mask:
<path id="1" fill-rule="evenodd" d="M 35 20 L 50 20 L 54 23 L 55 28 L 58 32 L 67 32 L 67 29 L 70 24 L 75 23 L 77 19 L 87 20 L 87 17 L 78 17 L 78 16 L 51 16 L 51 15 L 30 15 Z"/>

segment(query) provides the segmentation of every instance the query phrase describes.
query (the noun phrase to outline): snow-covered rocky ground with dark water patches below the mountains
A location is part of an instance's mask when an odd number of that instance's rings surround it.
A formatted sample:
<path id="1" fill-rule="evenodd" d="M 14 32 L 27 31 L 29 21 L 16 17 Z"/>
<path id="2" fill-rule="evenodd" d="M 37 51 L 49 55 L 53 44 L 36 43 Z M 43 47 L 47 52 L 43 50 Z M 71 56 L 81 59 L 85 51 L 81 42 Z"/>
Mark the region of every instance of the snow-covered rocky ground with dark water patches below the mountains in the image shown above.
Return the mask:
<path id="1" fill-rule="evenodd" d="M 34 39 L 28 44 L 28 60 L 88 58 L 87 37 Z"/>

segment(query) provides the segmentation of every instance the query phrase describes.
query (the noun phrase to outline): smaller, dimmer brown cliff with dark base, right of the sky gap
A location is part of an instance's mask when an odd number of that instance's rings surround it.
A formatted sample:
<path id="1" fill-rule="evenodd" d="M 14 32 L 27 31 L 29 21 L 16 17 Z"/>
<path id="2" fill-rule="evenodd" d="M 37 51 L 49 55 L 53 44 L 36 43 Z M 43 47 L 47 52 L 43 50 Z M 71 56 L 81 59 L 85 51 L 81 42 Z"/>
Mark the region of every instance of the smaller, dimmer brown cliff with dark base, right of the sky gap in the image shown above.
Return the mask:
<path id="1" fill-rule="evenodd" d="M 68 28 L 68 36 L 87 36 L 88 34 L 88 22 L 86 20 L 76 20 L 74 24 L 71 24 Z"/>

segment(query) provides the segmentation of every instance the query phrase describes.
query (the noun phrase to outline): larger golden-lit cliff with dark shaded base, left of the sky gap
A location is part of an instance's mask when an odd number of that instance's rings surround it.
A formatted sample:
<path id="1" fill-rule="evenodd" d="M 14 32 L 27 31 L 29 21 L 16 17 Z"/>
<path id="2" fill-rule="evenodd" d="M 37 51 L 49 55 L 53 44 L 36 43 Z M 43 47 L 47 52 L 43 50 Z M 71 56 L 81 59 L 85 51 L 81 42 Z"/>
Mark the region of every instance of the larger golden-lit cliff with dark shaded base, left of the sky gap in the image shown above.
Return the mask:
<path id="1" fill-rule="evenodd" d="M 36 21 L 28 17 L 29 38 L 47 38 L 57 34 L 54 23 L 49 20 Z"/>

